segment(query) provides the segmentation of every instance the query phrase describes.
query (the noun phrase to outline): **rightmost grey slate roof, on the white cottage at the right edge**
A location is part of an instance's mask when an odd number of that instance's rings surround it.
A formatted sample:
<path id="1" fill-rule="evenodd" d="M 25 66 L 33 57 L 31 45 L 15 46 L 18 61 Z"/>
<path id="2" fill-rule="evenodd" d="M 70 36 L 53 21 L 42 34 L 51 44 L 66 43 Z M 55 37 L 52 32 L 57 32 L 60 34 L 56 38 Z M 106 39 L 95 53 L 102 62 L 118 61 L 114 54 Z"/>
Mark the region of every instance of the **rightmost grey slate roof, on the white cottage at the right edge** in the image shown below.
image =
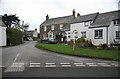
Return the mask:
<path id="1" fill-rule="evenodd" d="M 115 19 L 120 19 L 120 10 L 99 14 L 91 27 L 109 26 Z"/>

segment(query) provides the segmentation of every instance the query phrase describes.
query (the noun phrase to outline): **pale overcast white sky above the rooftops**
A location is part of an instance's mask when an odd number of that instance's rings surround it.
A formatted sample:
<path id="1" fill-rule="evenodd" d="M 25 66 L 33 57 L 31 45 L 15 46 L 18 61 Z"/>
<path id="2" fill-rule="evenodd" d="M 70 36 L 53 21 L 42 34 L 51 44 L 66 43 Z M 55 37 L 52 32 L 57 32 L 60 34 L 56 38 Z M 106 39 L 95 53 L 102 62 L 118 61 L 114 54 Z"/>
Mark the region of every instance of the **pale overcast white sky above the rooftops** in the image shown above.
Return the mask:
<path id="1" fill-rule="evenodd" d="M 73 9 L 80 15 L 118 10 L 119 0 L 0 0 L 0 15 L 17 14 L 29 24 L 29 30 L 38 29 L 49 18 L 72 15 Z"/>

